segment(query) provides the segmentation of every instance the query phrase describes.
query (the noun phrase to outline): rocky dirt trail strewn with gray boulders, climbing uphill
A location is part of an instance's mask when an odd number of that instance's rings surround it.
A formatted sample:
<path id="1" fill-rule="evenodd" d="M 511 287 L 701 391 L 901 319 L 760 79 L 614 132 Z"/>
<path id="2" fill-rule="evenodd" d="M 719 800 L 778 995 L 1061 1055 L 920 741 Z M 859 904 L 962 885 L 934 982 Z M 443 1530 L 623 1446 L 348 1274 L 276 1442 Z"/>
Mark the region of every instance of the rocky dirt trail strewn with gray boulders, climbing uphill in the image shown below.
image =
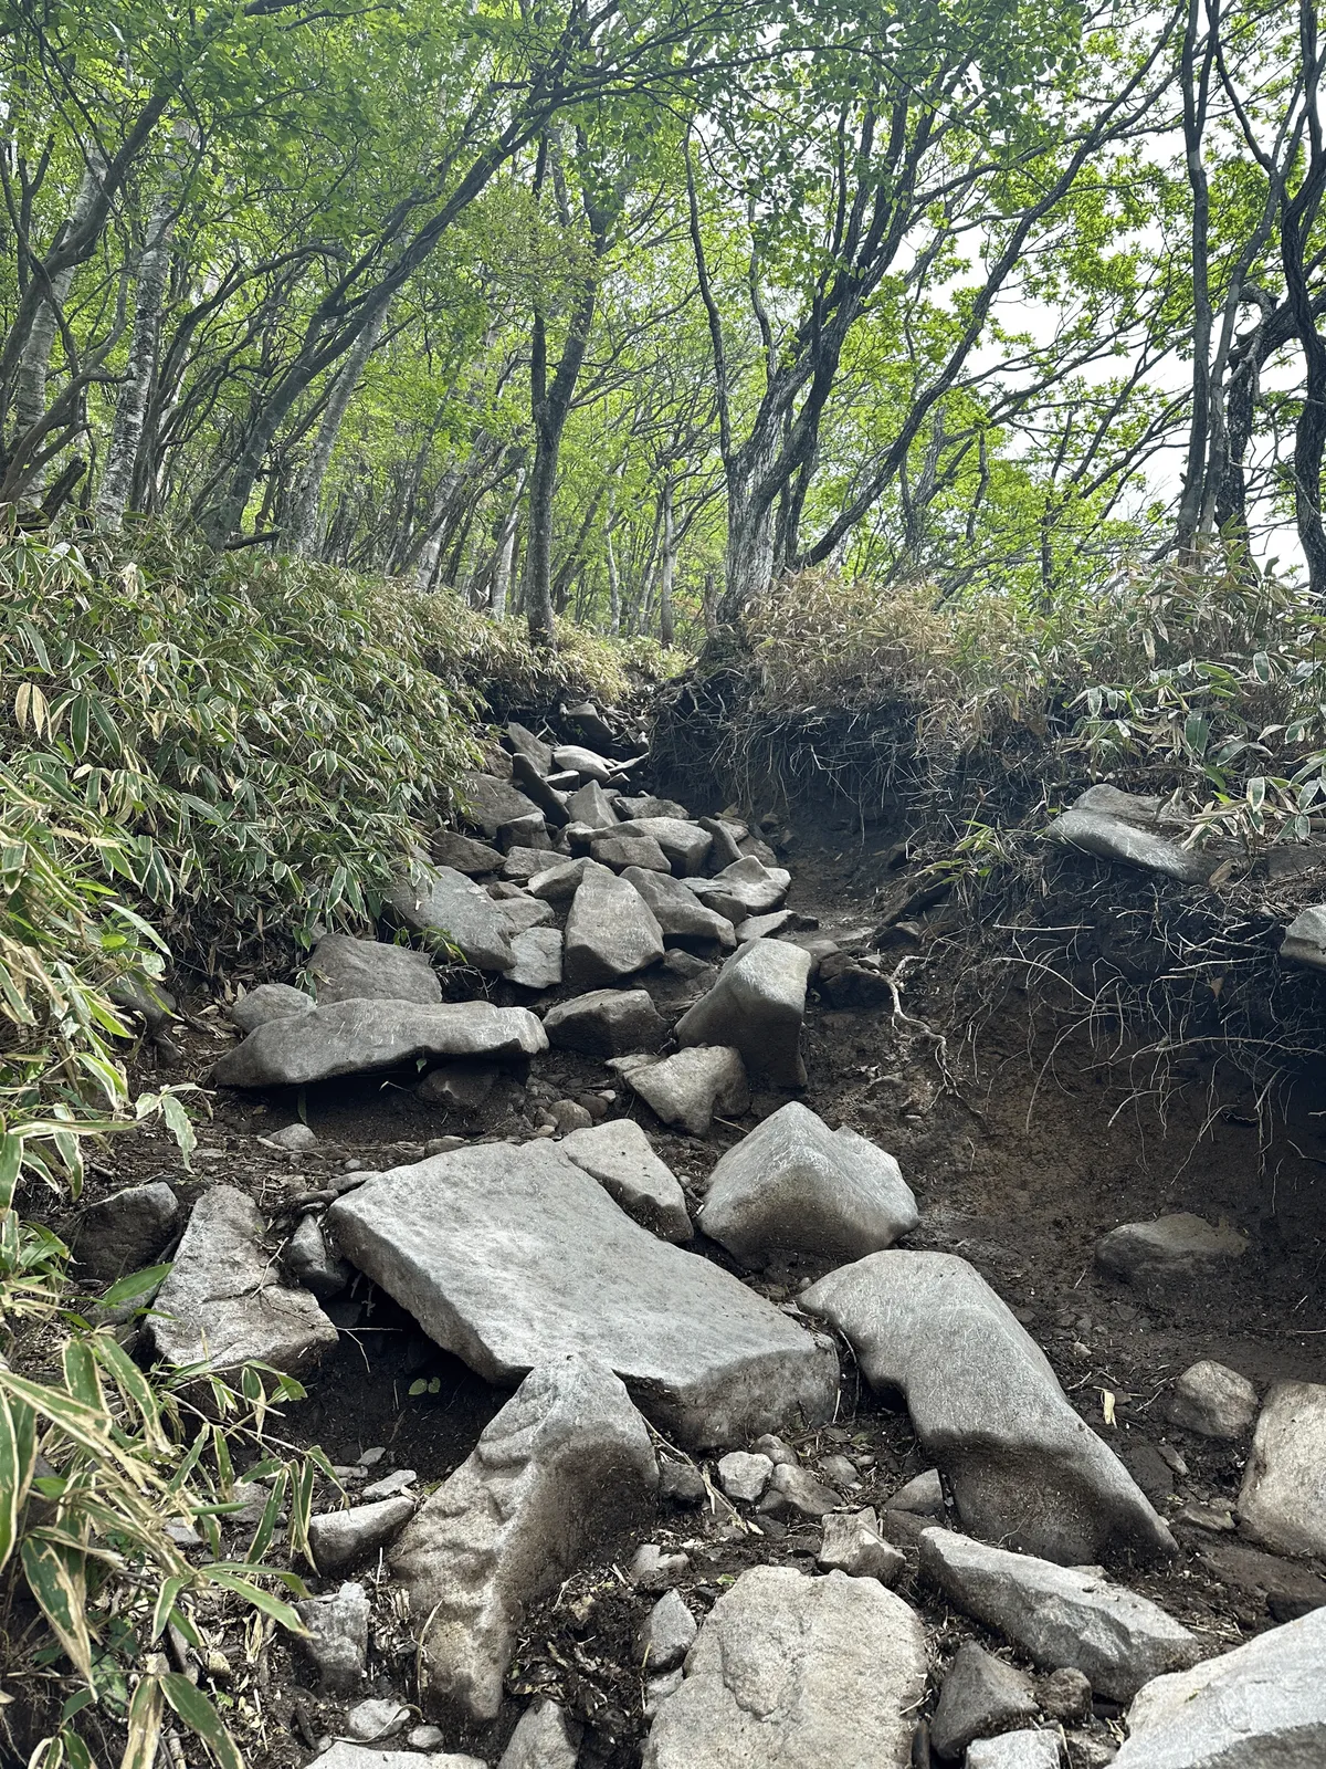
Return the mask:
<path id="1" fill-rule="evenodd" d="M 154 1028 L 194 1171 L 141 1130 L 67 1226 L 173 1261 L 136 1353 L 308 1385 L 308 1638 L 193 1658 L 251 1758 L 1326 1762 L 1321 1120 L 979 1014 L 833 805 L 589 708 L 486 766 L 380 939 Z M 1155 862 L 1121 798 L 1061 839 Z"/>

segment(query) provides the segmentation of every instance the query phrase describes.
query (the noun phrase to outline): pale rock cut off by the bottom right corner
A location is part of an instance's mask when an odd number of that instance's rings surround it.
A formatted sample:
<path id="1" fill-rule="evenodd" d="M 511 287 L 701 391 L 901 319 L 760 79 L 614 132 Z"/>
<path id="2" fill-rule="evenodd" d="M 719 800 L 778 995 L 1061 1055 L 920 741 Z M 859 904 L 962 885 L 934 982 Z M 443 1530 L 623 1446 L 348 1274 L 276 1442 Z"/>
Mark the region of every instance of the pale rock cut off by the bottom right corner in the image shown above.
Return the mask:
<path id="1" fill-rule="evenodd" d="M 1193 1670 L 1128 1709 L 1117 1769 L 1319 1769 L 1326 1762 L 1326 1610 Z"/>

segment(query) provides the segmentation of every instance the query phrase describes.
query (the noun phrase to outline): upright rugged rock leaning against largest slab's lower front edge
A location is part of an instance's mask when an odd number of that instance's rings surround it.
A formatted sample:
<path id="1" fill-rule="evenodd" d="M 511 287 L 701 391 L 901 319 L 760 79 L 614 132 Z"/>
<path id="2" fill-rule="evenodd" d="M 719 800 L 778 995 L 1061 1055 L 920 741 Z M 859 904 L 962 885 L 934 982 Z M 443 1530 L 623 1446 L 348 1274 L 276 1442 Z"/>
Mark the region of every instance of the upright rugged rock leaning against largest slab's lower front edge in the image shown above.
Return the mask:
<path id="1" fill-rule="evenodd" d="M 391 1555 L 433 1712 L 495 1719 L 525 1604 L 576 1571 L 658 1489 L 649 1431 L 591 1357 L 539 1364 Z"/>

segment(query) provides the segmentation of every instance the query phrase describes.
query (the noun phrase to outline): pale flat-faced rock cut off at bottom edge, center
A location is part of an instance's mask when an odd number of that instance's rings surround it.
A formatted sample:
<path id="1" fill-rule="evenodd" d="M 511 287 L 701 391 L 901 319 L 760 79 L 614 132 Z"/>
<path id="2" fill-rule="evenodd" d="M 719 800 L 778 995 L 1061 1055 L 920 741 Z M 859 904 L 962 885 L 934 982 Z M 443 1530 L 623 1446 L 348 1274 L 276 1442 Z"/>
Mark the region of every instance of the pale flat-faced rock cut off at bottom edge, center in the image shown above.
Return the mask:
<path id="1" fill-rule="evenodd" d="M 925 1631 L 877 1580 L 757 1566 L 709 1612 L 644 1769 L 903 1769 Z"/>

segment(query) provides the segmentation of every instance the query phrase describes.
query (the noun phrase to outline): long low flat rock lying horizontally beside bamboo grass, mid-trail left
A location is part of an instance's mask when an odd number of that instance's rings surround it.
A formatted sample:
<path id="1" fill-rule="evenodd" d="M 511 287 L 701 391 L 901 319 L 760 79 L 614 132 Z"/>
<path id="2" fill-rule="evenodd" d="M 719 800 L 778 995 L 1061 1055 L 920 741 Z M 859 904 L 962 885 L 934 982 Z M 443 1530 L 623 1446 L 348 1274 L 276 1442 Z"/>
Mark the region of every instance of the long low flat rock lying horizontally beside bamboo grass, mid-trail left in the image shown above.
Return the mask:
<path id="1" fill-rule="evenodd" d="M 546 1049 L 543 1026 L 523 1007 L 334 1001 L 251 1031 L 212 1076 L 223 1088 L 304 1086 L 394 1068 L 415 1056 L 537 1056 Z"/>

